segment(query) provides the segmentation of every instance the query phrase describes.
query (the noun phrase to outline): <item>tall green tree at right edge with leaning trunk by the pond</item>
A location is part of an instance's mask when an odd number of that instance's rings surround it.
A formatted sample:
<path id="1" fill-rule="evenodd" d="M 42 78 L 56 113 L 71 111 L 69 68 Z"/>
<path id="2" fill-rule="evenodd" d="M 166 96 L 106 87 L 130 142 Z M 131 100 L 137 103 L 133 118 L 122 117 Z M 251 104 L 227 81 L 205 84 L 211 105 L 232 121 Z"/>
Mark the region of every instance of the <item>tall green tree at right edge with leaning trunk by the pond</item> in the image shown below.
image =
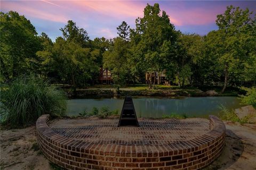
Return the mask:
<path id="1" fill-rule="evenodd" d="M 221 92 L 224 92 L 231 79 L 242 75 L 244 63 L 254 55 L 251 44 L 255 40 L 255 18 L 248 8 L 228 6 L 225 13 L 217 15 L 218 31 L 213 31 L 212 50 L 215 50 L 218 63 L 223 70 L 224 83 Z M 254 54 L 253 54 L 254 53 Z M 233 75 L 233 76 L 232 76 Z"/>

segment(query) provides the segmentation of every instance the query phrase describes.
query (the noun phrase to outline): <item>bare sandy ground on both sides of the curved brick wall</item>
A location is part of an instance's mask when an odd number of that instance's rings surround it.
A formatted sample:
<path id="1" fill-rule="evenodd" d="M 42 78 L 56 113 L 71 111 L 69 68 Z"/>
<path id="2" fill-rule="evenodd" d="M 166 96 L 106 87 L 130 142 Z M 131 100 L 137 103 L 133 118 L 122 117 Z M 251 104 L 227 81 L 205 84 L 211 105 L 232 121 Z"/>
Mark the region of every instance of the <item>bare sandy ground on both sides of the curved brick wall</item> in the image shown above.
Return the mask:
<path id="1" fill-rule="evenodd" d="M 221 156 L 205 170 L 256 170 L 256 125 L 225 122 L 226 146 Z M 54 169 L 36 142 L 35 126 L 1 130 L 1 169 Z"/>

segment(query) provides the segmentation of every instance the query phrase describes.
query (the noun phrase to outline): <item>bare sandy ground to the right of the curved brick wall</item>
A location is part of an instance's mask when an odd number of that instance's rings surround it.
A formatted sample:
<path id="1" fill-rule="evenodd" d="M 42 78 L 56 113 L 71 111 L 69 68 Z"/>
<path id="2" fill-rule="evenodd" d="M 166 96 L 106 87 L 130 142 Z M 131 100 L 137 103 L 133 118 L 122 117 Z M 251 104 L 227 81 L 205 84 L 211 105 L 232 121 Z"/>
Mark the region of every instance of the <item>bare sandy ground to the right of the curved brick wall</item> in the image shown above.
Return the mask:
<path id="1" fill-rule="evenodd" d="M 221 156 L 205 170 L 256 169 L 256 125 L 225 122 L 226 146 Z"/>

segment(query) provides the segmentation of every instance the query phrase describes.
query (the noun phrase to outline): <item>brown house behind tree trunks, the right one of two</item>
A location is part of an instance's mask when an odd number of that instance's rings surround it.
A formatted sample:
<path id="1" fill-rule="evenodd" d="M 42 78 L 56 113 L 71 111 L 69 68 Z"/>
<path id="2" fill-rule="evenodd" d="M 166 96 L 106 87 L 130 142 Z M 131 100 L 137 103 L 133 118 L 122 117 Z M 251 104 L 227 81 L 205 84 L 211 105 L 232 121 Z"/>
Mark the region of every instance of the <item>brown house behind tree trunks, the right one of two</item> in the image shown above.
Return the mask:
<path id="1" fill-rule="evenodd" d="M 150 73 L 146 73 L 146 84 L 149 84 L 150 81 Z M 152 72 L 152 77 L 151 77 L 152 84 L 165 84 L 169 85 L 169 80 L 166 79 L 166 74 L 165 71 L 162 72 Z"/>

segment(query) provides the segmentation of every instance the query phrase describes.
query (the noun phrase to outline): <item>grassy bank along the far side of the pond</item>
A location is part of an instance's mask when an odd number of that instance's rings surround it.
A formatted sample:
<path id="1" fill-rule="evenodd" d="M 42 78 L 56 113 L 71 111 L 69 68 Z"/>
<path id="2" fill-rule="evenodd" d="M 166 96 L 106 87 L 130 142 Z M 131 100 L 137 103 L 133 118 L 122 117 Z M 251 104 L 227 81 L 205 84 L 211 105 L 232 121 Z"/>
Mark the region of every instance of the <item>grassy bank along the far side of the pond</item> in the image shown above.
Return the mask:
<path id="1" fill-rule="evenodd" d="M 115 89 L 114 85 L 95 85 L 87 89 L 65 88 L 69 98 L 87 98 L 95 96 L 159 96 L 159 97 L 205 97 L 205 96 L 238 96 L 239 89 L 227 88 L 221 94 L 221 88 L 179 88 L 178 86 L 156 85 L 154 89 L 148 89 L 147 84 L 135 84 Z"/>

